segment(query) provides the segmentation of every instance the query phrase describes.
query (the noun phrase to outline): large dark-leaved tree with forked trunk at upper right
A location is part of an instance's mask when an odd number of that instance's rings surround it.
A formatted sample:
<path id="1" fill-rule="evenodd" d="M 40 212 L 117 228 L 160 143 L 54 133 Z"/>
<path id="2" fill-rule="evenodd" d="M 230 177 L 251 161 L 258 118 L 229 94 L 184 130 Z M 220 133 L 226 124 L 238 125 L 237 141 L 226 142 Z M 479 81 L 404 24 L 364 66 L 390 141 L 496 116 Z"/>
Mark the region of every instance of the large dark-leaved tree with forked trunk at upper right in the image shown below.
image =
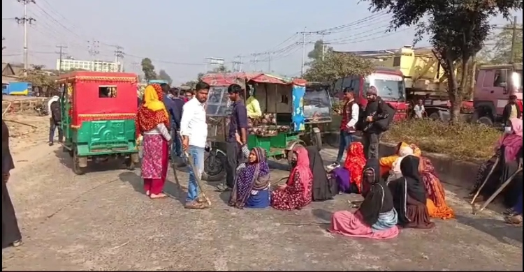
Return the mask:
<path id="1" fill-rule="evenodd" d="M 428 35 L 434 54 L 448 80 L 451 122 L 458 121 L 460 105 L 467 92 L 470 73 L 467 67 L 481 50 L 491 30 L 489 20 L 497 15 L 509 17 L 511 11 L 522 9 L 522 0 L 367 0 L 371 10 L 387 10 L 393 15 L 391 26 L 417 27 L 418 42 Z M 455 75 L 460 65 L 460 79 Z M 459 84 L 460 82 L 460 84 Z"/>

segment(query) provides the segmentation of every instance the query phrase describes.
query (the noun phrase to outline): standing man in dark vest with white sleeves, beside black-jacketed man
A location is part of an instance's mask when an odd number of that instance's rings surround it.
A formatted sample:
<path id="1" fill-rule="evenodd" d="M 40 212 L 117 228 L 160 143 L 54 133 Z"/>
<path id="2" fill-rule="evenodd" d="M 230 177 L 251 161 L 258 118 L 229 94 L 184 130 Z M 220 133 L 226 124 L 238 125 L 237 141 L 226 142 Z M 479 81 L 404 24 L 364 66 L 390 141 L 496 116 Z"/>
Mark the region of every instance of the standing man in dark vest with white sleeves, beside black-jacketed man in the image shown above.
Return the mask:
<path id="1" fill-rule="evenodd" d="M 360 107 L 355 101 L 355 93 L 353 89 L 344 89 L 344 106 L 340 115 L 342 115 L 342 122 L 340 123 L 340 143 L 338 146 L 337 160 L 331 165 L 331 167 L 338 167 L 342 162 L 344 151 L 347 150 L 349 144 L 353 142 L 353 133 L 355 133 L 356 122 L 358 121 L 358 112 Z"/>

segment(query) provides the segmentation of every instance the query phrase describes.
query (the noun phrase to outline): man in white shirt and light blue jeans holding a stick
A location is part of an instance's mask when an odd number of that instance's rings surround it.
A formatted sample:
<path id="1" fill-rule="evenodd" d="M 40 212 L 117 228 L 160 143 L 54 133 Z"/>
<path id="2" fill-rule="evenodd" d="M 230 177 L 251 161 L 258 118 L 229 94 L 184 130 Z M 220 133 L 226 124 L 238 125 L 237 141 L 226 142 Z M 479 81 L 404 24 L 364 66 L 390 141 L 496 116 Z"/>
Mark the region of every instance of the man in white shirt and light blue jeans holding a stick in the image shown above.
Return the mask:
<path id="1" fill-rule="evenodd" d="M 208 139 L 208 123 L 205 121 L 205 101 L 208 100 L 210 86 L 205 82 L 196 84 L 194 98 L 187 101 L 182 108 L 180 135 L 182 147 L 193 158 L 196 169 L 189 167 L 189 184 L 187 187 L 187 209 L 205 209 L 207 206 L 198 199 L 198 186 L 195 175 L 202 177 L 204 171 L 204 149 Z"/>

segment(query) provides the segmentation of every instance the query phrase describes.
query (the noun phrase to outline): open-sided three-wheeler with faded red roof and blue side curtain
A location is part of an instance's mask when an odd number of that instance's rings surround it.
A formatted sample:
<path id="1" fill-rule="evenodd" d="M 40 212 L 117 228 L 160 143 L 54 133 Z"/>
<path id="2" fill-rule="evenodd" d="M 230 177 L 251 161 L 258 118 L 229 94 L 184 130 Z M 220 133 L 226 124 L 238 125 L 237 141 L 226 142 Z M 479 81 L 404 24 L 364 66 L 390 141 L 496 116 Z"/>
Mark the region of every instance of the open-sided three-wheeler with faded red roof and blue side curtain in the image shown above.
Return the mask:
<path id="1" fill-rule="evenodd" d="M 231 84 L 239 84 L 244 90 L 247 85 L 251 86 L 261 106 L 261 118 L 249 119 L 249 149 L 261 147 L 268 157 L 278 160 L 288 158 L 289 151 L 307 143 L 305 80 L 264 73 L 212 73 L 203 75 L 201 80 L 211 86 L 206 106 L 211 151 L 205 160 L 204 179 L 215 181 L 224 175 L 225 136 L 231 115 L 227 88 Z M 247 99 L 245 91 L 242 97 Z"/>

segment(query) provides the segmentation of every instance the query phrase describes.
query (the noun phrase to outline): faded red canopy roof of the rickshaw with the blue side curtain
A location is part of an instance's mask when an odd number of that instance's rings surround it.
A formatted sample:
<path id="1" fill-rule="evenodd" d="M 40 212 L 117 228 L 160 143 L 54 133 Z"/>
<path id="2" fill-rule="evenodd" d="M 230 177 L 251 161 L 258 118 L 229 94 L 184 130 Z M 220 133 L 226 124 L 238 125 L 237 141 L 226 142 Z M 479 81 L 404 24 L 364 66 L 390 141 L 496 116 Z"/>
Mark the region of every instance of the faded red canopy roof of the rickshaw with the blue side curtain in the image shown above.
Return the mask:
<path id="1" fill-rule="evenodd" d="M 252 81 L 257 83 L 283 84 L 305 86 L 306 80 L 301 78 L 280 77 L 265 73 L 210 73 L 201 77 L 201 80 L 211 86 L 229 86 L 231 84 L 243 85 Z"/>

